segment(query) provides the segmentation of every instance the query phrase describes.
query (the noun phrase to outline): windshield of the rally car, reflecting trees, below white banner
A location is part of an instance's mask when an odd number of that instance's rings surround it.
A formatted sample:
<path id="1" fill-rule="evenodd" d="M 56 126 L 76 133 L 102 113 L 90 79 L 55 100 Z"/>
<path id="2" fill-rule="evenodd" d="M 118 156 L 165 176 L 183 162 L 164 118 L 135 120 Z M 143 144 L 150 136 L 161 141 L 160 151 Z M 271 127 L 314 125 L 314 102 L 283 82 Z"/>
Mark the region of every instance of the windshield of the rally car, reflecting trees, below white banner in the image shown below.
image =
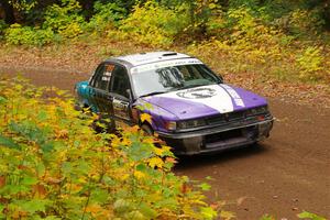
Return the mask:
<path id="1" fill-rule="evenodd" d="M 146 69 L 132 74 L 138 97 L 221 82 L 204 64 Z"/>

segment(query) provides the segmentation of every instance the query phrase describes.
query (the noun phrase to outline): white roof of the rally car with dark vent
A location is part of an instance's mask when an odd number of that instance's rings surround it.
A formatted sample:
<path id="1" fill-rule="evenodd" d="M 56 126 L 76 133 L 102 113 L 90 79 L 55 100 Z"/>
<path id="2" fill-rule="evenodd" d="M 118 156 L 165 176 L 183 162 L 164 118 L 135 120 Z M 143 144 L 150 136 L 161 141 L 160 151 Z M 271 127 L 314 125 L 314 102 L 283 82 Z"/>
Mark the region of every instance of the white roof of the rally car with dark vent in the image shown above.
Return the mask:
<path id="1" fill-rule="evenodd" d="M 164 52 L 148 52 L 148 53 L 131 54 L 125 56 L 118 56 L 118 57 L 109 58 L 107 61 L 117 61 L 119 63 L 124 63 L 131 67 L 135 67 L 144 64 L 151 64 L 151 63 L 156 63 L 162 61 L 180 59 L 180 58 L 191 58 L 191 56 L 182 53 L 164 51 Z"/>

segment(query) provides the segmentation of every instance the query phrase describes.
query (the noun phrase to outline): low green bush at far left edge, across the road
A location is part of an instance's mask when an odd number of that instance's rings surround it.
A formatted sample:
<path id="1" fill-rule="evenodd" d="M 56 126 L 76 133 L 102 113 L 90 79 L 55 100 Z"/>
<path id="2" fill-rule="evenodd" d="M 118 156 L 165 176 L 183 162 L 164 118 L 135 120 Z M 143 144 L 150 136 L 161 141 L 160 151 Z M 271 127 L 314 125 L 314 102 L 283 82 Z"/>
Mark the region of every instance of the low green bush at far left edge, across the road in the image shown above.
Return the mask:
<path id="1" fill-rule="evenodd" d="M 54 33 L 50 29 L 42 30 L 31 26 L 21 26 L 20 24 L 12 24 L 6 30 L 4 38 L 8 43 L 14 45 L 42 46 L 53 42 Z"/>

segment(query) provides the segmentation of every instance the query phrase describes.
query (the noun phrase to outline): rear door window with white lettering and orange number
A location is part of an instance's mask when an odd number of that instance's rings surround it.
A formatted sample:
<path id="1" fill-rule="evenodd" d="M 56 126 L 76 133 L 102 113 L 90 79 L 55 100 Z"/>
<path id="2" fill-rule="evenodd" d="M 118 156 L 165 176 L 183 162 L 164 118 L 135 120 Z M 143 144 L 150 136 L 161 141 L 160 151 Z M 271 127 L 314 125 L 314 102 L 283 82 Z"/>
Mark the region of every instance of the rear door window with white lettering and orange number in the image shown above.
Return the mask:
<path id="1" fill-rule="evenodd" d="M 101 64 L 91 79 L 91 86 L 98 89 L 109 90 L 110 78 L 113 69 L 113 64 Z"/>

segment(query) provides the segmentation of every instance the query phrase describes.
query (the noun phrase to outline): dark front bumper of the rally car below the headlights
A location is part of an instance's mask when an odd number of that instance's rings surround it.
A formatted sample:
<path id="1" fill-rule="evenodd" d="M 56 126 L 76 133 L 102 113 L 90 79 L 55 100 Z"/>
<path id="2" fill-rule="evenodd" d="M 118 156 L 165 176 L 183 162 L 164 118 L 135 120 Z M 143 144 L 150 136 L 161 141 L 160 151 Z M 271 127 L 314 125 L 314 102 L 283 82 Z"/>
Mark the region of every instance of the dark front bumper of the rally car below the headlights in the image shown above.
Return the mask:
<path id="1" fill-rule="evenodd" d="M 263 121 L 246 120 L 190 132 L 158 132 L 158 135 L 173 146 L 176 155 L 210 154 L 264 140 L 270 135 L 273 121 L 268 116 Z"/>

